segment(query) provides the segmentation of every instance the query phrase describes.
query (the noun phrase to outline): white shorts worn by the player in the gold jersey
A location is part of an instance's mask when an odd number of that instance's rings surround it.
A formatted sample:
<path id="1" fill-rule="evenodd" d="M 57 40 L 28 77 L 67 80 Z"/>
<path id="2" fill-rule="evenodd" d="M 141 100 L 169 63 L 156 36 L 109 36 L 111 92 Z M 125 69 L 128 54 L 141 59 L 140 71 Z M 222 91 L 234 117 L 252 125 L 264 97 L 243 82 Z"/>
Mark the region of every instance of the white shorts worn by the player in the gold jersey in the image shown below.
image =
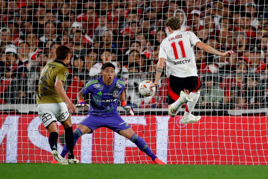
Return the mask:
<path id="1" fill-rule="evenodd" d="M 70 116 L 65 103 L 38 104 L 37 108 L 38 115 L 45 128 L 47 128 L 53 121 L 64 122 Z"/>

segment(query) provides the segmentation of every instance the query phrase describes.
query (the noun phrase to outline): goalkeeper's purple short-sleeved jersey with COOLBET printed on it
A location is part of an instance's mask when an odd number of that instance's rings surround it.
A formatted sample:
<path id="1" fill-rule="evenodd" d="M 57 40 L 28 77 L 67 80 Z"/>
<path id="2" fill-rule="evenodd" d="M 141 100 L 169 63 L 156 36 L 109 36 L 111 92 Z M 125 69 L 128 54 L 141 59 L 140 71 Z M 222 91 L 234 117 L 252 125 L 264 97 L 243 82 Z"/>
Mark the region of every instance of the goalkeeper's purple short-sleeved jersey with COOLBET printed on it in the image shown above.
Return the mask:
<path id="1" fill-rule="evenodd" d="M 90 93 L 90 99 L 92 100 L 88 115 L 118 114 L 117 101 L 124 89 L 125 82 L 119 78 L 114 78 L 110 86 L 104 84 L 103 77 L 90 80 L 82 89 L 85 95 Z"/>

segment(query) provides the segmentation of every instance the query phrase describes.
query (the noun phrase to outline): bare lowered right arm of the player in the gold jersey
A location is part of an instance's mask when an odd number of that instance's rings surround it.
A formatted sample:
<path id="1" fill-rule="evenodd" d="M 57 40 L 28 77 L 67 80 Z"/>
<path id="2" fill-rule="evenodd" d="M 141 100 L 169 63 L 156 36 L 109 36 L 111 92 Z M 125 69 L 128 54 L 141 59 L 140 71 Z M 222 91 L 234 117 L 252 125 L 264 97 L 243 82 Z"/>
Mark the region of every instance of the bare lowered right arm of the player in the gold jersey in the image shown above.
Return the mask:
<path id="1" fill-rule="evenodd" d="M 67 94 L 65 93 L 65 90 L 63 88 L 63 81 L 60 79 L 57 79 L 55 82 L 55 89 L 57 90 L 60 97 L 63 99 L 63 101 L 66 103 L 68 111 L 71 114 L 74 114 L 76 112 L 76 108 L 74 104 L 70 101 Z"/>

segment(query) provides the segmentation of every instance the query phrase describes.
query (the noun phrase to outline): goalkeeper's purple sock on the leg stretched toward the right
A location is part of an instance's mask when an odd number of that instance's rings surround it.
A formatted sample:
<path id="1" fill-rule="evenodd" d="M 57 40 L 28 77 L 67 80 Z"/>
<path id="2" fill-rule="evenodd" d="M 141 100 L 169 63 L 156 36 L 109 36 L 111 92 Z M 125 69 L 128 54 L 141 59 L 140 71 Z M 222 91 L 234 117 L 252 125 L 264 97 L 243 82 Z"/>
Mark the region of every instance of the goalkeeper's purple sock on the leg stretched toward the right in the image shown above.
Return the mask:
<path id="1" fill-rule="evenodd" d="M 130 139 L 134 144 L 137 145 L 137 147 L 144 152 L 145 154 L 147 154 L 149 157 L 151 157 L 151 159 L 154 161 L 157 157 L 156 155 L 153 153 L 153 151 L 150 149 L 150 147 L 148 146 L 148 144 L 145 142 L 145 140 L 143 140 L 141 137 L 139 137 L 138 135 L 134 134 L 131 139 Z"/>

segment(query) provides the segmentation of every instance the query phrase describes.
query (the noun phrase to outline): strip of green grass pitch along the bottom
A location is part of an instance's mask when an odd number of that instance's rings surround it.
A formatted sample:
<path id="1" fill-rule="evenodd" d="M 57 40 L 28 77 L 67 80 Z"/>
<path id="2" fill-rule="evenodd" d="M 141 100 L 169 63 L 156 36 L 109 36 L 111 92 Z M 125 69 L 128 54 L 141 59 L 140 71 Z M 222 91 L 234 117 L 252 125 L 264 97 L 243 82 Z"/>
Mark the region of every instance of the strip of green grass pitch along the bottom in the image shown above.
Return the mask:
<path id="1" fill-rule="evenodd" d="M 1 179 L 262 179 L 268 166 L 0 163 Z"/>

